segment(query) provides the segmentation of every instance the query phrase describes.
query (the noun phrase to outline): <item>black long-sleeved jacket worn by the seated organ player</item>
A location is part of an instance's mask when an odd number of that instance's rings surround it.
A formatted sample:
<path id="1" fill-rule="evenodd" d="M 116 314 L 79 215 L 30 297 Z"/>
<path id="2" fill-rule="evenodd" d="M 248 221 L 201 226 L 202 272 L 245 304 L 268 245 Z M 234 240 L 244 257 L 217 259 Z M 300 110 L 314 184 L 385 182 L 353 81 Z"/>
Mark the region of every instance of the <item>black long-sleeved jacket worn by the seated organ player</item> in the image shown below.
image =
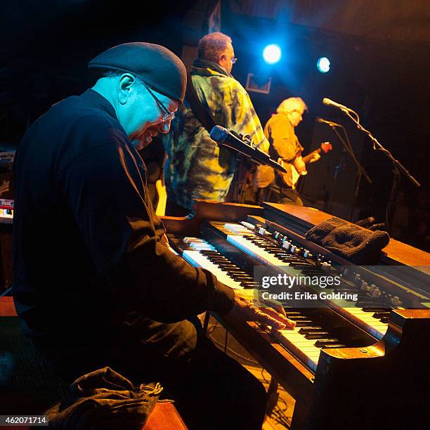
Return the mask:
<path id="1" fill-rule="evenodd" d="M 162 245 L 146 169 L 112 105 L 53 105 L 15 157 L 13 296 L 31 337 L 94 337 L 133 308 L 174 322 L 227 313 L 233 291 Z"/>

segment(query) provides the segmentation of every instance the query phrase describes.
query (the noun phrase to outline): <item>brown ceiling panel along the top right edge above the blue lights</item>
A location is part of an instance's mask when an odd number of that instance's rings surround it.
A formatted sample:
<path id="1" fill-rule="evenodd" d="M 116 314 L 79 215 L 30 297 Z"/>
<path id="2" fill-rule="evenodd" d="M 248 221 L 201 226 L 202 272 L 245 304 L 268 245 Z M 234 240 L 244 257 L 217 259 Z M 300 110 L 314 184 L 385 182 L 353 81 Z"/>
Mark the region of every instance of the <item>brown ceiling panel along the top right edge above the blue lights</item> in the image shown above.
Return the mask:
<path id="1" fill-rule="evenodd" d="M 328 32 L 386 41 L 429 41 L 429 7 L 423 0 L 230 0 L 240 15 L 287 20 Z"/>

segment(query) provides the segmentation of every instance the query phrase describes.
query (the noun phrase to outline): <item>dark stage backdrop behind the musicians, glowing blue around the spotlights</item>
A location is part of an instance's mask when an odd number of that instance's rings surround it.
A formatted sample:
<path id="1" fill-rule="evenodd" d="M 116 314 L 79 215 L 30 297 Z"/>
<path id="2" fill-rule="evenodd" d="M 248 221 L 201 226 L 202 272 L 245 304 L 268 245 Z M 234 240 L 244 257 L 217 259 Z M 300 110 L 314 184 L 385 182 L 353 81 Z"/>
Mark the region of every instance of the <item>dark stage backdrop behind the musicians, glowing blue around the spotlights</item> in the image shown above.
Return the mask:
<path id="1" fill-rule="evenodd" d="M 178 56 L 207 33 L 215 1 L 4 0 L 0 10 L 0 143 L 18 144 L 34 119 L 56 101 L 92 84 L 86 64 L 126 41 L 150 41 Z M 309 167 L 302 193 L 315 207 L 345 219 L 383 221 L 391 164 L 368 138 L 323 97 L 353 108 L 361 123 L 422 183 L 405 178 L 396 202 L 405 226 L 396 236 L 429 247 L 430 16 L 426 1 L 221 2 L 221 31 L 233 39 L 233 74 L 245 86 L 248 73 L 270 76 L 271 93 L 249 92 L 264 125 L 280 101 L 304 98 L 309 112 L 297 129 L 306 152 L 330 140 L 334 150 Z M 266 66 L 261 50 L 282 46 L 282 59 Z M 315 67 L 320 56 L 329 73 Z M 358 158 L 372 178 L 356 189 L 356 168 L 322 116 L 346 126 Z M 334 173 L 337 179 L 334 181 Z M 318 178 L 318 180 L 316 180 Z M 357 195 L 354 192 L 358 190 Z M 404 210 L 403 210 L 404 208 Z"/>

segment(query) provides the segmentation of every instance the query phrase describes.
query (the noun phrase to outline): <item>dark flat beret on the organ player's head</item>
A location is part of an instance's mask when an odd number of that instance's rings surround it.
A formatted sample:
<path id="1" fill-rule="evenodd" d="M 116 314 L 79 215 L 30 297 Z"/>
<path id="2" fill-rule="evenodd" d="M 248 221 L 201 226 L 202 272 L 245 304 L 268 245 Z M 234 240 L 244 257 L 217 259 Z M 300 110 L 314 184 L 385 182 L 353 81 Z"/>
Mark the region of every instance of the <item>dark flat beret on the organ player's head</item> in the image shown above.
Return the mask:
<path id="1" fill-rule="evenodd" d="M 146 42 L 114 46 L 93 58 L 88 68 L 135 74 L 159 93 L 181 103 L 185 96 L 185 66 L 178 56 L 164 46 Z"/>

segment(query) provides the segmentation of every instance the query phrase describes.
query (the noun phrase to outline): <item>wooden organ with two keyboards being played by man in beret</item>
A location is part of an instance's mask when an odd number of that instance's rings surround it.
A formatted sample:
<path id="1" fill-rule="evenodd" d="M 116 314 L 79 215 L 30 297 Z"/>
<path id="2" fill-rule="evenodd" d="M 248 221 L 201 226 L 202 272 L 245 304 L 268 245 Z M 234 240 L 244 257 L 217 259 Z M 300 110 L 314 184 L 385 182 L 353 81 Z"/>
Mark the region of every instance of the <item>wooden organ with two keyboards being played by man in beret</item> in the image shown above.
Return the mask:
<path id="1" fill-rule="evenodd" d="M 306 240 L 329 218 L 282 204 L 198 202 L 193 218 L 163 221 L 176 252 L 235 289 L 261 287 L 256 266 L 273 276 L 342 276 L 323 298 L 285 307 L 294 330 L 215 315 L 296 399 L 293 429 L 424 428 L 430 256 L 391 240 L 372 266 L 353 266 Z M 315 297 L 312 285 L 297 292 Z"/>

